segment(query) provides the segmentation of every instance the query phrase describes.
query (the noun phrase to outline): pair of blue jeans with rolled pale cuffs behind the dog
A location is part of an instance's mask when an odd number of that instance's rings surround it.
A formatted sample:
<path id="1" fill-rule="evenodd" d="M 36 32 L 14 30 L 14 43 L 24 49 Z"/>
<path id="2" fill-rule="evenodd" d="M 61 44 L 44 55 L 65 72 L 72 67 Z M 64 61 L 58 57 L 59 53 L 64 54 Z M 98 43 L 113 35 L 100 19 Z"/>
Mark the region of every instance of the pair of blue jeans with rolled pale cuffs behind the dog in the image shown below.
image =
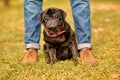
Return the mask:
<path id="1" fill-rule="evenodd" d="M 39 49 L 42 0 L 24 0 L 25 48 Z M 89 0 L 71 0 L 78 49 L 91 48 L 91 24 Z"/>

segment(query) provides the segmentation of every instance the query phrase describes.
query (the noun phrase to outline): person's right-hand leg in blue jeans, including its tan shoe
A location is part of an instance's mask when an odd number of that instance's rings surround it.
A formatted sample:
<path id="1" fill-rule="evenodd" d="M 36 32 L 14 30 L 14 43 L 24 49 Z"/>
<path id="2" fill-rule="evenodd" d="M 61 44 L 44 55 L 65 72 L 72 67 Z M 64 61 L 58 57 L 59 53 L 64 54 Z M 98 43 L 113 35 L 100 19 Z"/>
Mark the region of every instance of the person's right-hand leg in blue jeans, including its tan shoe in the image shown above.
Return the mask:
<path id="1" fill-rule="evenodd" d="M 90 0 L 71 0 L 71 7 L 78 41 L 78 50 L 81 50 L 80 57 L 83 62 L 88 64 L 94 64 L 96 63 L 96 60 L 90 52 Z M 88 54 L 89 57 L 87 57 L 86 54 Z"/>

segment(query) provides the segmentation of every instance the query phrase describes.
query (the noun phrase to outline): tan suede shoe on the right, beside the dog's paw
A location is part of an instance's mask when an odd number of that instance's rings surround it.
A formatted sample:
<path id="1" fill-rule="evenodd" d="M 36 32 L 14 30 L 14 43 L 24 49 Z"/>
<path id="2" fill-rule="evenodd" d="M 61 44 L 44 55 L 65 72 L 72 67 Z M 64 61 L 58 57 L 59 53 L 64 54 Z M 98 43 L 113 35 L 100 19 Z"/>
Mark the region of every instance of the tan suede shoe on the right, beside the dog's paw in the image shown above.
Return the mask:
<path id="1" fill-rule="evenodd" d="M 97 60 L 92 55 L 92 52 L 89 48 L 83 48 L 81 50 L 80 58 L 82 60 L 82 63 L 84 63 L 84 64 L 88 64 L 90 66 L 96 66 L 97 65 Z"/>

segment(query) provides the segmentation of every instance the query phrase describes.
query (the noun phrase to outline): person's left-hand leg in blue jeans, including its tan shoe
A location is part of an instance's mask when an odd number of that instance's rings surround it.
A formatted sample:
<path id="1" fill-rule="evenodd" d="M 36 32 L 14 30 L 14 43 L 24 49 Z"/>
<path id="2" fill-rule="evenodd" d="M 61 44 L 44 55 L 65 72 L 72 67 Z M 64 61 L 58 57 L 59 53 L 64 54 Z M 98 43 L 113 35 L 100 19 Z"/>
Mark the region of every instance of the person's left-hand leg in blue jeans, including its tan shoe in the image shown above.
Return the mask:
<path id="1" fill-rule="evenodd" d="M 37 60 L 41 31 L 38 15 L 42 12 L 42 2 L 42 0 L 24 0 L 24 39 L 28 53 L 25 55 L 22 63 L 34 63 Z"/>

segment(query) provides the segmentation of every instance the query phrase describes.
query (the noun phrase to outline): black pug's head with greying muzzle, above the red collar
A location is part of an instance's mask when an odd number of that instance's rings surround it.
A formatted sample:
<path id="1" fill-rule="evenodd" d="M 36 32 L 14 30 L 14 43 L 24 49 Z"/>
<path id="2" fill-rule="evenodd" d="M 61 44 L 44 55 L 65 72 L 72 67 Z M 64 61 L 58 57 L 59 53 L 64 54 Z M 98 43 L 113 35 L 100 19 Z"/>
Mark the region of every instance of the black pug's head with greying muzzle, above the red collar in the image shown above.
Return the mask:
<path id="1" fill-rule="evenodd" d="M 39 16 L 41 23 L 49 30 L 59 30 L 65 17 L 66 13 L 58 8 L 48 8 Z"/>

